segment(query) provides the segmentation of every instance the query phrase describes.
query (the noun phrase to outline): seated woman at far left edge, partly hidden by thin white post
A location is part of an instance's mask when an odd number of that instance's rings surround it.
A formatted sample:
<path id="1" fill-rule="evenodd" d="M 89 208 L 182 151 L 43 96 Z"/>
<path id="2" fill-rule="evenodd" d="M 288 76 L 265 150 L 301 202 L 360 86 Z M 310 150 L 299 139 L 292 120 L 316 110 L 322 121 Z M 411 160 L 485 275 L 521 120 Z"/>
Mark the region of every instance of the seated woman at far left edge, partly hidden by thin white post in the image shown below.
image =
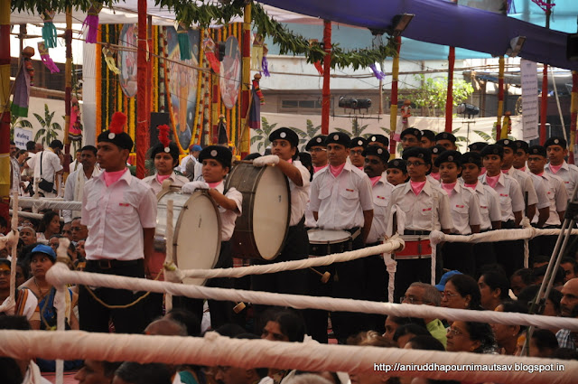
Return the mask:
<path id="1" fill-rule="evenodd" d="M 4 303 L 10 295 L 11 263 L 0 258 L 0 303 Z M 27 289 L 16 289 L 15 315 L 26 316 L 33 330 L 40 329 L 40 314 L 38 313 L 38 299 Z M 0 313 L 0 315 L 3 315 Z"/>

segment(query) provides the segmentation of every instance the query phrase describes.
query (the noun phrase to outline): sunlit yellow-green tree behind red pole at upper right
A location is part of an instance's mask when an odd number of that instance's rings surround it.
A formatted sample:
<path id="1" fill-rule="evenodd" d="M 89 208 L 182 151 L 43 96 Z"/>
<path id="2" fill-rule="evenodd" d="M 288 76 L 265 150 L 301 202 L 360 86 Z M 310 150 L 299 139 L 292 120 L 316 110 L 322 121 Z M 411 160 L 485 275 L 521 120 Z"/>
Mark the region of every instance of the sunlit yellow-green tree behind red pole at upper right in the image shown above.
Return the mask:
<path id="1" fill-rule="evenodd" d="M 415 80 L 421 82 L 422 86 L 414 94 L 413 102 L 417 107 L 424 107 L 427 116 L 437 117 L 438 112 L 445 109 L 445 102 L 448 94 L 448 78 L 427 78 L 425 75 L 416 75 Z M 453 80 L 453 105 L 466 101 L 473 93 L 473 87 L 465 80 Z"/>

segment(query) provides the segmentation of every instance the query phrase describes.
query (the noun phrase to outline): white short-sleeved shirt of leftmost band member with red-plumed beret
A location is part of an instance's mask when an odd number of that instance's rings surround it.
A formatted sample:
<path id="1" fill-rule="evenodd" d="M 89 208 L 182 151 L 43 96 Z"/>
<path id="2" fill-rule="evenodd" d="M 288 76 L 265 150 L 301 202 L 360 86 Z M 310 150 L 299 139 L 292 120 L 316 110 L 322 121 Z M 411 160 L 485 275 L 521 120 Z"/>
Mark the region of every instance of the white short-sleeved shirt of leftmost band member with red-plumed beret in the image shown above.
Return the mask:
<path id="1" fill-rule="evenodd" d="M 108 187 L 104 174 L 84 184 L 81 222 L 89 227 L 87 259 L 144 258 L 143 229 L 156 227 L 153 190 L 128 169 Z"/>

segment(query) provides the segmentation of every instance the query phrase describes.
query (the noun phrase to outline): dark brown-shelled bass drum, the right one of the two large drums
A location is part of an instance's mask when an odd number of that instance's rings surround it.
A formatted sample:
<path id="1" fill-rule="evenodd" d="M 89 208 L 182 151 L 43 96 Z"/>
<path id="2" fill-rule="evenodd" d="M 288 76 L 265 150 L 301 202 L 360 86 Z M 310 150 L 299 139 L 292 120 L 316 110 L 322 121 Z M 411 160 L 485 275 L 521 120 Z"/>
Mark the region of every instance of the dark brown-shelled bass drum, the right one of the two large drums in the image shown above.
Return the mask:
<path id="1" fill-rule="evenodd" d="M 243 212 L 231 242 L 236 258 L 273 260 L 284 247 L 291 219 L 291 194 L 285 175 L 274 166 L 238 163 L 228 174 L 225 191 L 243 194 Z"/>

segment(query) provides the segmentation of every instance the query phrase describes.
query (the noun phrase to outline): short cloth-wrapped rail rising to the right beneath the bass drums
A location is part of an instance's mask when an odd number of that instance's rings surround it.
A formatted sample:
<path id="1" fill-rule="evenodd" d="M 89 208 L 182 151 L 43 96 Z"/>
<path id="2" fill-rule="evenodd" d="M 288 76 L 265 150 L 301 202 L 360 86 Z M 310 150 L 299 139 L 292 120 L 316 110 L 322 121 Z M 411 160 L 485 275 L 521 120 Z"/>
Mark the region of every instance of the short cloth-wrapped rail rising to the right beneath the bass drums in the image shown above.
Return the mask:
<path id="1" fill-rule="evenodd" d="M 242 277 L 247 275 L 272 274 L 275 272 L 304 269 L 308 267 L 329 266 L 332 263 L 355 260 L 357 258 L 367 258 L 372 255 L 382 253 L 391 253 L 398 248 L 404 247 L 404 240 L 399 236 L 387 239 L 384 244 L 352 250 L 349 252 L 335 253 L 319 258 L 304 258 L 303 260 L 283 261 L 275 264 L 266 264 L 260 266 L 237 267 L 237 268 L 215 268 L 215 269 L 178 269 L 172 263 L 169 263 L 164 271 L 166 281 L 180 283 L 185 277 Z"/>

